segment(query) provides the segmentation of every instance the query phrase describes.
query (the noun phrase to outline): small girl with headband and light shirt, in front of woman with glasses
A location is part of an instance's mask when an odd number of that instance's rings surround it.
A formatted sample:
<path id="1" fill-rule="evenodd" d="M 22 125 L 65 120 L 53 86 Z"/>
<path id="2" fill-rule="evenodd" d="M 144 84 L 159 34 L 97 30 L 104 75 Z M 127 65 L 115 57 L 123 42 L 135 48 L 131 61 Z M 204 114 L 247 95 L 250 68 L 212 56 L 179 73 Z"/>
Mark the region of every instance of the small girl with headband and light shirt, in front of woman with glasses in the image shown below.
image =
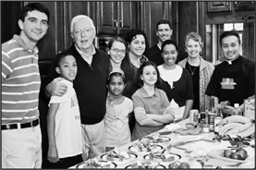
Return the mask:
<path id="1" fill-rule="evenodd" d="M 133 110 L 132 101 L 123 96 L 126 79 L 122 70 L 118 69 L 110 72 L 107 79 L 107 87 L 109 92 L 106 100 L 106 114 L 104 116 L 105 152 L 131 141 L 128 114 Z"/>

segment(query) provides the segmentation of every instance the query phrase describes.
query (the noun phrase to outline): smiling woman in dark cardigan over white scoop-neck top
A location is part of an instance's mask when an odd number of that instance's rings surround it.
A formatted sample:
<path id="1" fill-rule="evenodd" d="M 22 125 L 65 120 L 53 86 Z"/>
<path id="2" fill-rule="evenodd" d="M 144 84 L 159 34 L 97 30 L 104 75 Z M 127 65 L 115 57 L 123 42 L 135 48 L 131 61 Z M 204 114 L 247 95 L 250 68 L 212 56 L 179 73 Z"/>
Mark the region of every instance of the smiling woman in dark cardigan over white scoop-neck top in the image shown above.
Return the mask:
<path id="1" fill-rule="evenodd" d="M 176 64 L 177 43 L 166 40 L 161 48 L 165 63 L 158 66 L 163 84 L 160 89 L 167 94 L 175 112 L 175 122 L 189 117 L 193 105 L 193 83 L 189 71 Z"/>

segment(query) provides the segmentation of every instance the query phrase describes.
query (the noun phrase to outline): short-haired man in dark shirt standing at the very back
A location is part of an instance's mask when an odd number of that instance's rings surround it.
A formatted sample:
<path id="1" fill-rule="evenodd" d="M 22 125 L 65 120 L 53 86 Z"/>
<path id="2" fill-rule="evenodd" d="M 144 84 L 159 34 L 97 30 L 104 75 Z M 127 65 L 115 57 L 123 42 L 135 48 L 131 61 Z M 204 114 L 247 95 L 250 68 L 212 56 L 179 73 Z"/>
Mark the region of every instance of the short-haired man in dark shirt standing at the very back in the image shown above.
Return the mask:
<path id="1" fill-rule="evenodd" d="M 161 19 L 156 24 L 156 36 L 158 37 L 158 42 L 154 44 L 150 49 L 145 51 L 145 54 L 150 61 L 153 61 L 157 66 L 164 64 L 163 56 L 161 55 L 162 43 L 165 40 L 170 40 L 173 30 L 171 29 L 171 23 L 169 20 Z M 176 64 L 185 59 L 188 54 L 181 47 L 178 47 L 178 55 Z"/>

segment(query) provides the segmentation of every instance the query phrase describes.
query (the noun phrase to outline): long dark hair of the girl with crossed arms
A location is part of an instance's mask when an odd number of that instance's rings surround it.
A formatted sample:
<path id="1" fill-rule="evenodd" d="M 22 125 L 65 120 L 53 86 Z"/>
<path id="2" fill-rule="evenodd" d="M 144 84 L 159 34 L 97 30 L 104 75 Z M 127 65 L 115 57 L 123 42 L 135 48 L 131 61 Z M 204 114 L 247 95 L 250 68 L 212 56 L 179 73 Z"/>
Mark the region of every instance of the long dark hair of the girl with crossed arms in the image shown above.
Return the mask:
<path id="1" fill-rule="evenodd" d="M 144 70 L 144 67 L 148 67 L 148 66 L 152 66 L 154 67 L 155 71 L 156 71 L 156 74 L 157 74 L 157 80 L 154 84 L 154 87 L 159 87 L 161 84 L 162 84 L 162 79 L 160 78 L 160 73 L 159 73 L 159 70 L 156 66 L 156 64 L 152 61 L 147 61 L 145 63 L 143 63 L 141 66 L 140 66 L 140 69 L 139 69 L 139 72 L 137 74 L 137 85 L 141 88 L 144 84 L 143 80 L 140 79 L 140 75 L 143 74 L 143 70 Z"/>

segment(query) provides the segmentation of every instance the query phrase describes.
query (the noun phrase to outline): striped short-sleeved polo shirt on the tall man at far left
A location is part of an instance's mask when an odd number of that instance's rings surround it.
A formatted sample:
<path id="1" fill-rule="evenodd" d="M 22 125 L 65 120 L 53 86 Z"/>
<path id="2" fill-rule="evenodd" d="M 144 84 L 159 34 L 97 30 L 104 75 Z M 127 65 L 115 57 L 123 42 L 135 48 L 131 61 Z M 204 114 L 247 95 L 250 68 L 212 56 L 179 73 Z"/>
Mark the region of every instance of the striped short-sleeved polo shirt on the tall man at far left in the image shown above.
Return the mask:
<path id="1" fill-rule="evenodd" d="M 39 117 L 40 85 L 38 48 L 31 51 L 18 35 L 2 43 L 2 125 Z"/>

